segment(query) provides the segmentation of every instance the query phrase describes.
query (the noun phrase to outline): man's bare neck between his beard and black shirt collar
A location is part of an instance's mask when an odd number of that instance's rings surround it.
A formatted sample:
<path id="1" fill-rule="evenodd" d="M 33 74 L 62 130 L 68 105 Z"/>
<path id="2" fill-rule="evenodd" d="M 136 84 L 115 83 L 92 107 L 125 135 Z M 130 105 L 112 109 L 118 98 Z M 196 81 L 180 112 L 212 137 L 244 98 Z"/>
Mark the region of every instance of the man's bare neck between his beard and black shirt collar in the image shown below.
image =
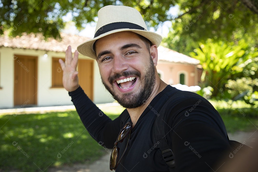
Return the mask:
<path id="1" fill-rule="evenodd" d="M 149 99 L 146 100 L 146 102 L 141 105 L 138 108 L 133 108 L 133 109 L 127 109 L 128 113 L 130 114 L 131 120 L 133 122 L 133 127 L 135 126 L 136 122 L 140 118 L 141 114 L 143 111 L 148 107 L 150 102 L 154 99 L 156 95 L 158 95 L 160 92 L 162 92 L 166 88 L 167 84 L 164 83 L 160 78 L 157 79 L 157 82 L 154 85 L 154 89 L 149 96 Z"/>

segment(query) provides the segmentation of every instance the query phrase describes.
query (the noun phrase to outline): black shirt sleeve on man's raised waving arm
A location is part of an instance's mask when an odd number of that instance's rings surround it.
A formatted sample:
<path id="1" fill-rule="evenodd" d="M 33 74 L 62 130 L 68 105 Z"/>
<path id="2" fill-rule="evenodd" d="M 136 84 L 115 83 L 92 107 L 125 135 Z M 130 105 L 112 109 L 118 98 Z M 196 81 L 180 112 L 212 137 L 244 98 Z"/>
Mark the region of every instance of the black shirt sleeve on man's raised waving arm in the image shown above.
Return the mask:
<path id="1" fill-rule="evenodd" d="M 84 93 L 81 87 L 69 92 L 72 102 L 90 135 L 102 146 L 112 149 L 120 132 L 120 116 L 111 120 Z"/>

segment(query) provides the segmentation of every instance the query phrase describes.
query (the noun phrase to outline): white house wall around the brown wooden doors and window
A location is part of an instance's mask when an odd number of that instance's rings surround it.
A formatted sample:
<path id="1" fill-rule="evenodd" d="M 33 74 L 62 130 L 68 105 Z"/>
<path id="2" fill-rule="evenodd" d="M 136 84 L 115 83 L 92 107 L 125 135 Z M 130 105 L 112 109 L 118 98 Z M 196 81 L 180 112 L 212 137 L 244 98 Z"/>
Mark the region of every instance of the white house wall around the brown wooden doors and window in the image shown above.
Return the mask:
<path id="1" fill-rule="evenodd" d="M 45 58 L 46 53 L 48 56 Z M 64 52 L 0 47 L 0 109 L 14 107 L 14 54 L 38 57 L 37 106 L 72 105 L 71 97 L 65 88 L 51 88 L 52 57 L 64 58 Z M 81 54 L 79 59 L 93 60 Z M 93 68 L 93 102 L 114 101 L 101 83 L 98 64 L 95 60 Z"/>

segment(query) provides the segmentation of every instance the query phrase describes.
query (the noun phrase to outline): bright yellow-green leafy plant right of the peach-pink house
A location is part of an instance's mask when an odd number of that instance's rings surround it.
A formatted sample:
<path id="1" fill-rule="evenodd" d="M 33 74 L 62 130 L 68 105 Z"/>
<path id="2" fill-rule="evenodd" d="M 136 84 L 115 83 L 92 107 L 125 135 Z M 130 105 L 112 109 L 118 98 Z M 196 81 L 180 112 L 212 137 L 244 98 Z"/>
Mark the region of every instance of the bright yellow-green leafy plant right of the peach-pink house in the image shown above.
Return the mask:
<path id="1" fill-rule="evenodd" d="M 190 53 L 190 56 L 200 60 L 203 67 L 201 76 L 201 87 L 211 86 L 214 88 L 212 96 L 224 95 L 225 84 L 234 73 L 241 72 L 241 68 L 235 66 L 246 61 L 249 56 L 256 55 L 248 51 L 248 45 L 244 40 L 240 40 L 238 45 L 233 43 L 213 43 L 211 40 L 207 44 L 200 44 L 200 48 Z"/>

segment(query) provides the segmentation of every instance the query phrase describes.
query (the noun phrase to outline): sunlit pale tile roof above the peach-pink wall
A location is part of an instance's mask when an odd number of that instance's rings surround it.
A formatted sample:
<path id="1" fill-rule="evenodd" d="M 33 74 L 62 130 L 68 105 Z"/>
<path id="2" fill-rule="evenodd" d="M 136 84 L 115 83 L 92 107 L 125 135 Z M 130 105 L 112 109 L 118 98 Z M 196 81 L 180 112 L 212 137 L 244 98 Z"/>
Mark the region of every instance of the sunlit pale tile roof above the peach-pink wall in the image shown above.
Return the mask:
<path id="1" fill-rule="evenodd" d="M 159 46 L 158 47 L 158 59 L 159 61 L 167 61 L 174 63 L 185 63 L 185 64 L 200 64 L 200 61 L 179 53 L 177 51 L 171 50 L 169 48 Z"/>

